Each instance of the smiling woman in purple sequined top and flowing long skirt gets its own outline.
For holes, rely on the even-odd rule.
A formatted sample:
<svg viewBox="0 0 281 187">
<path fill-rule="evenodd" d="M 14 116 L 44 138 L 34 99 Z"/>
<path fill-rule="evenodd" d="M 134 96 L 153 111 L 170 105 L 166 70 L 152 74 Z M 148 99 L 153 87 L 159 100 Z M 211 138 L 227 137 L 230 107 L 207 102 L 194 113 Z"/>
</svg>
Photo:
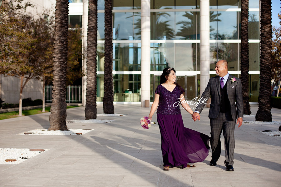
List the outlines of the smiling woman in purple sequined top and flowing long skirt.
<svg viewBox="0 0 281 187">
<path fill-rule="evenodd" d="M 187 163 L 204 161 L 209 153 L 210 138 L 185 128 L 179 105 L 174 107 L 179 101 L 184 101 L 184 92 L 185 90 L 176 83 L 175 70 L 165 68 L 160 77 L 160 84 L 155 90 L 155 99 L 148 116 L 151 119 L 158 107 L 157 122 L 161 134 L 164 170 L 169 170 L 169 166 L 191 167 Z M 187 103 L 181 105 L 188 113 L 193 114 Z"/>
</svg>

